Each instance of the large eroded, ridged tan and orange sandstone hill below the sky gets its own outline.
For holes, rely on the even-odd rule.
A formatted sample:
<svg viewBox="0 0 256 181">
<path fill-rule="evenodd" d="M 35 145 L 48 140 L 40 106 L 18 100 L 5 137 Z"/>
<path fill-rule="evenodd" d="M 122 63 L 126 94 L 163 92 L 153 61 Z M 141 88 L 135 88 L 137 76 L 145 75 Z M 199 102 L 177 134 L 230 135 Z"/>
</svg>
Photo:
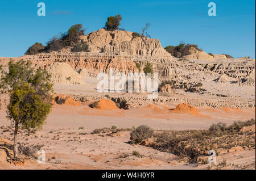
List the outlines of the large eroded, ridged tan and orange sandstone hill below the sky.
<svg viewBox="0 0 256 181">
<path fill-rule="evenodd" d="M 76 85 L 84 83 L 84 77 L 96 77 L 100 72 L 109 73 L 110 68 L 113 68 L 115 73 L 127 74 L 138 72 L 136 63 L 139 63 L 143 70 L 147 62 L 150 62 L 154 72 L 158 73 L 159 81 L 172 81 L 177 92 L 174 96 L 169 86 L 163 87 L 160 93 L 166 92 L 168 95 L 159 94 L 158 98 L 150 100 L 156 104 L 176 105 L 188 102 L 193 106 L 255 107 L 255 96 L 251 93 L 251 90 L 255 89 L 255 60 L 249 57 L 236 59 L 217 54 L 211 56 L 192 47 L 184 53 L 183 58 L 175 58 L 163 49 L 158 39 L 133 38 L 132 32 L 128 31 L 100 29 L 81 36 L 81 40 L 88 44 L 88 52 L 72 53 L 71 48 L 65 48 L 58 52 L 24 55 L 13 59 L 30 60 L 35 67 L 47 69 L 52 73 L 53 83 Z M 10 58 L 0 57 L 0 64 L 6 68 L 9 60 Z M 236 81 L 238 83 L 233 83 Z M 203 83 L 203 86 L 196 86 L 199 82 Z M 220 90 L 221 82 L 232 82 L 232 85 L 228 85 L 232 86 L 232 95 L 228 88 Z M 236 89 L 242 89 L 239 86 L 246 86 L 245 90 L 241 91 L 246 99 L 234 93 Z M 191 94 L 193 98 L 188 97 Z M 114 102 L 126 108 L 141 106 L 147 101 L 146 94 L 125 94 L 113 98 Z M 77 99 L 99 100 L 102 96 L 87 95 L 83 92 Z"/>
</svg>

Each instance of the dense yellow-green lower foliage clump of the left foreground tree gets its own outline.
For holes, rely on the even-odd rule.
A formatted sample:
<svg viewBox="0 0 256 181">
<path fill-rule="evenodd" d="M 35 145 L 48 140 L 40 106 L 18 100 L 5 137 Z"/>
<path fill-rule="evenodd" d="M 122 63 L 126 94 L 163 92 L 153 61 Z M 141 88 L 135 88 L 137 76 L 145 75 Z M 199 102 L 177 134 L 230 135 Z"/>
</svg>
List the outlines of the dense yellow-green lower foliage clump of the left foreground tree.
<svg viewBox="0 0 256 181">
<path fill-rule="evenodd" d="M 36 93 L 30 83 L 22 82 L 10 94 L 7 106 L 7 117 L 16 120 L 23 129 L 40 129 L 51 111 L 51 104 L 46 103 L 42 96 Z"/>
</svg>

